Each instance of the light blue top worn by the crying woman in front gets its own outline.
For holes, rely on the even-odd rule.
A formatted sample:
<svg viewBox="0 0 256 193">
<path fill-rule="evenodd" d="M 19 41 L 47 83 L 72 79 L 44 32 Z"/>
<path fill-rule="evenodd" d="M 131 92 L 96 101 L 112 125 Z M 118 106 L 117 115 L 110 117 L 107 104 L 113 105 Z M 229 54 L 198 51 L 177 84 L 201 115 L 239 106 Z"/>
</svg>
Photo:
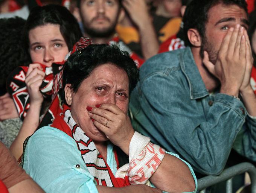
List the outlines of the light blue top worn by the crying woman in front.
<svg viewBox="0 0 256 193">
<path fill-rule="evenodd" d="M 179 158 L 174 153 L 169 153 Z M 108 144 L 107 164 L 113 174 L 117 171 L 113 145 Z M 184 160 L 182 160 L 184 161 Z M 197 191 L 197 180 L 192 167 Z M 76 165 L 79 164 L 80 168 Z M 40 128 L 30 137 L 24 153 L 24 170 L 46 193 L 98 193 L 96 181 L 88 172 L 81 152 L 73 138 L 59 129 Z"/>
</svg>

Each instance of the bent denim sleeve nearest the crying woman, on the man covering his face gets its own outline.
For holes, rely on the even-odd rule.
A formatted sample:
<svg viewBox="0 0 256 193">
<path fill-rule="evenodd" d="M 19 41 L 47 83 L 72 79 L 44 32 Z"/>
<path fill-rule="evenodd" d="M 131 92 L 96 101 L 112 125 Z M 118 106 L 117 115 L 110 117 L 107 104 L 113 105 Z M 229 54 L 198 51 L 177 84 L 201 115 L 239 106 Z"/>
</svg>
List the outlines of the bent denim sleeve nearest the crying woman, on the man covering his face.
<svg viewBox="0 0 256 193">
<path fill-rule="evenodd" d="M 245 107 L 221 93 L 212 104 L 209 96 L 191 99 L 189 84 L 180 74 L 180 68 L 173 67 L 140 81 L 130 102 L 134 129 L 180 154 L 197 172 L 218 175 L 245 123 Z"/>
</svg>

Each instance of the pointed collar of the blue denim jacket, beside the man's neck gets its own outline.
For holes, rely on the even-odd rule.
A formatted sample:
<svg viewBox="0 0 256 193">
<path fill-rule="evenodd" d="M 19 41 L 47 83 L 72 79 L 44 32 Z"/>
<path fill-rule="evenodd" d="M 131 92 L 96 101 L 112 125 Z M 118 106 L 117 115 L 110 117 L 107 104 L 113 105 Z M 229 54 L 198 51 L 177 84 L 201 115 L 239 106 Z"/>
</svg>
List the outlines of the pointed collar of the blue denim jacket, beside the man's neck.
<svg viewBox="0 0 256 193">
<path fill-rule="evenodd" d="M 190 47 L 187 47 L 184 49 L 184 52 L 181 52 L 180 66 L 189 83 L 190 99 L 200 99 L 209 95 L 195 64 Z"/>
</svg>

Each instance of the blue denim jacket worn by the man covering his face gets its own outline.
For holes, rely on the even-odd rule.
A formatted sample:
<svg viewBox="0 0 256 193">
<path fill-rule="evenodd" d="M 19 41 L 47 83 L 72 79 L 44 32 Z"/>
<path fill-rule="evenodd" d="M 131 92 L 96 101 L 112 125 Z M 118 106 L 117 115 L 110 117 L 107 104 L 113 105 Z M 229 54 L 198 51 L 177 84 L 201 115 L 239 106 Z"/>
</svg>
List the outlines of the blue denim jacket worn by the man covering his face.
<svg viewBox="0 0 256 193">
<path fill-rule="evenodd" d="M 207 91 L 189 47 L 142 65 L 130 112 L 136 131 L 197 172 L 219 174 L 232 147 L 256 161 L 256 118 L 235 97 Z"/>
</svg>

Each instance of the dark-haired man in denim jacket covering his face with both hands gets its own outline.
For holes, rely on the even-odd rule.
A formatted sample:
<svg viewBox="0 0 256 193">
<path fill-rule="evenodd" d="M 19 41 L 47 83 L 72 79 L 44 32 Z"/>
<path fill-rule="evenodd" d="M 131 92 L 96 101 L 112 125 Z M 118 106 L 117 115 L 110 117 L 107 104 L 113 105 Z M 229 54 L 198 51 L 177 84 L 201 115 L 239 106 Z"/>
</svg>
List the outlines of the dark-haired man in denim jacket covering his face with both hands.
<svg viewBox="0 0 256 193">
<path fill-rule="evenodd" d="M 256 161 L 246 7 L 192 0 L 183 18 L 189 47 L 149 59 L 131 94 L 134 128 L 206 175 L 222 171 L 232 147 Z"/>
</svg>

